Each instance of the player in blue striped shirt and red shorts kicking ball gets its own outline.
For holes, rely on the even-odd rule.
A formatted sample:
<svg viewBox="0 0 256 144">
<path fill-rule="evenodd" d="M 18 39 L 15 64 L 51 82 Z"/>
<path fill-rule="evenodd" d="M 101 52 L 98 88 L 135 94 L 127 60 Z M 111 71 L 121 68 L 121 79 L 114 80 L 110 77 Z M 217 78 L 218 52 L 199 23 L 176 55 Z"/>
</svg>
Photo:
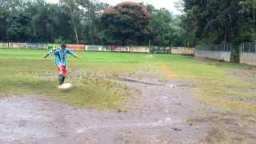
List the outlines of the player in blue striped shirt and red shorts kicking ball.
<svg viewBox="0 0 256 144">
<path fill-rule="evenodd" d="M 62 44 L 61 48 L 51 50 L 47 53 L 43 58 L 47 58 L 48 56 L 54 55 L 55 57 L 55 65 L 58 68 L 58 89 L 61 88 L 62 84 L 65 81 L 66 74 L 67 74 L 67 61 L 66 61 L 66 54 L 70 54 L 74 56 L 74 58 L 82 59 L 78 57 L 77 54 L 74 54 L 73 51 L 66 48 L 66 44 Z"/>
</svg>

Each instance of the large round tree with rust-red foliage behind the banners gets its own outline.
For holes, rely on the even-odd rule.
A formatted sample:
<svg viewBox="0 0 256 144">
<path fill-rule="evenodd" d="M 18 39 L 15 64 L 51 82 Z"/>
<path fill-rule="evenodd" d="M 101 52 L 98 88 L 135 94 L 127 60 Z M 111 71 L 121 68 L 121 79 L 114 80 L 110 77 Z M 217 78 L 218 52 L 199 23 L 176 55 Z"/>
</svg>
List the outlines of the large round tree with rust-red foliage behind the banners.
<svg viewBox="0 0 256 144">
<path fill-rule="evenodd" d="M 108 44 L 145 45 L 150 36 L 150 13 L 139 3 L 122 2 L 101 17 L 103 38 Z"/>
</svg>

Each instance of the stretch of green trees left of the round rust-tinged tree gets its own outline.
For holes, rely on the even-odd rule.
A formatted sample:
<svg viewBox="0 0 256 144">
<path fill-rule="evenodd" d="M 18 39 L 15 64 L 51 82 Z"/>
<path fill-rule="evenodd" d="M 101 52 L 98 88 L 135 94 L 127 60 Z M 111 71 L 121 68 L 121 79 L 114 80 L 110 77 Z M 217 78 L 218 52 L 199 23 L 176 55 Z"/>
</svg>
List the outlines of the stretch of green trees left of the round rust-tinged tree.
<svg viewBox="0 0 256 144">
<path fill-rule="evenodd" d="M 1 0 L 0 42 L 101 43 L 98 18 L 106 4 L 97 1 Z"/>
</svg>

